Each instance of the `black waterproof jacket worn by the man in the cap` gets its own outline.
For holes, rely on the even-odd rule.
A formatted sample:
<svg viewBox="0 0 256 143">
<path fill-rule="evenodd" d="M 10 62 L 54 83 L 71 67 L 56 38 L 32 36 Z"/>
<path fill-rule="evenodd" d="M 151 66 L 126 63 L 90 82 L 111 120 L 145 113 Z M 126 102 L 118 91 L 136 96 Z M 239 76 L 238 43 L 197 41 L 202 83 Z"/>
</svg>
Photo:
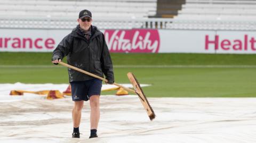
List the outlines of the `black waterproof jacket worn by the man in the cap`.
<svg viewBox="0 0 256 143">
<path fill-rule="evenodd" d="M 79 30 L 79 25 L 62 39 L 53 51 L 52 58 L 67 56 L 67 62 L 76 68 L 91 72 L 107 80 L 114 81 L 113 64 L 105 37 L 97 27 L 91 26 L 92 36 L 87 40 Z M 68 68 L 69 82 L 93 79 L 90 75 Z"/>
</svg>

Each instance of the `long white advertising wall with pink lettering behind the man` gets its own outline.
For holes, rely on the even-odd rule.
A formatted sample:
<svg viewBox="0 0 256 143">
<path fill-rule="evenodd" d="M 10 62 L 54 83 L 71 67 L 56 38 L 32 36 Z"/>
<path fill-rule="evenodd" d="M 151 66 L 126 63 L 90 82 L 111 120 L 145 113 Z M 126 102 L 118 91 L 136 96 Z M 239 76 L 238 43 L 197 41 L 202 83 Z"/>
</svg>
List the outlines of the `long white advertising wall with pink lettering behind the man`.
<svg viewBox="0 0 256 143">
<path fill-rule="evenodd" d="M 0 29 L 0 52 L 52 52 L 71 30 Z M 255 54 L 255 31 L 101 30 L 110 52 Z"/>
</svg>

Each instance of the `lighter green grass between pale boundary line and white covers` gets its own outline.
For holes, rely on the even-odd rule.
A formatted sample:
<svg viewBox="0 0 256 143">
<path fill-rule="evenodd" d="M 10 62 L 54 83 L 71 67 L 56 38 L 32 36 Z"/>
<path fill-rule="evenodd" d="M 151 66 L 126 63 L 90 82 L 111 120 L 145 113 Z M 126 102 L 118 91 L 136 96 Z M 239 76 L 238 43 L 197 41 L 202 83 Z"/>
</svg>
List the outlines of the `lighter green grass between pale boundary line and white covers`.
<svg viewBox="0 0 256 143">
<path fill-rule="evenodd" d="M 60 66 L 60 65 L 59 65 Z M 117 83 L 133 72 L 149 97 L 256 97 L 255 68 L 115 68 Z M 68 83 L 66 68 L 3 68 L 1 83 Z M 114 92 L 102 92 L 114 94 Z"/>
</svg>

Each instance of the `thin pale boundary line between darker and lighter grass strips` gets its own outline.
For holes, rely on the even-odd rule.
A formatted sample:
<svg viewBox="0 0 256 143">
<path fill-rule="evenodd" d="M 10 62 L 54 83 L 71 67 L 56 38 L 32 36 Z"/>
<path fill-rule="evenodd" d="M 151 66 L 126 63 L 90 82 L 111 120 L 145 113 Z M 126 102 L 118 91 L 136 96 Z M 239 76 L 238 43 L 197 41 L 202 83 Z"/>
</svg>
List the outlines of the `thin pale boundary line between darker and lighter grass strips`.
<svg viewBox="0 0 256 143">
<path fill-rule="evenodd" d="M 0 65 L 0 68 L 66 68 L 56 65 Z M 256 65 L 114 65 L 114 68 L 256 68 Z"/>
</svg>

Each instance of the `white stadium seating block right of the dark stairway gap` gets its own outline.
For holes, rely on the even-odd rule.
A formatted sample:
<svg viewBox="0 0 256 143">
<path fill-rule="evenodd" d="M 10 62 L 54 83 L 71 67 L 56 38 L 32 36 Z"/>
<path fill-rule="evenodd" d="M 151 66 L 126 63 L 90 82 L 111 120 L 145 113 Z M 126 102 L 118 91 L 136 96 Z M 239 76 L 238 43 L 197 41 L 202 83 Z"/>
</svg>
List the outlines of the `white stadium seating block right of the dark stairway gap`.
<svg viewBox="0 0 256 143">
<path fill-rule="evenodd" d="M 187 0 L 171 29 L 255 30 L 256 1 Z"/>
</svg>

